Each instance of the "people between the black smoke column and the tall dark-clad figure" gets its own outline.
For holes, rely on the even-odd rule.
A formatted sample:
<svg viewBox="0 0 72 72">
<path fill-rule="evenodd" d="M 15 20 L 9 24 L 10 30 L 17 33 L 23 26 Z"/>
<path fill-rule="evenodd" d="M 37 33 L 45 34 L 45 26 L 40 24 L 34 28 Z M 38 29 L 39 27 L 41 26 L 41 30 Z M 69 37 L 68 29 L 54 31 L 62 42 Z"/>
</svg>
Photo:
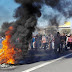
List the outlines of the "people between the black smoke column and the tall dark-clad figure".
<svg viewBox="0 0 72 72">
<path fill-rule="evenodd" d="M 52 45 L 51 45 L 52 44 Z M 33 36 L 31 43 L 29 44 L 31 49 L 52 49 L 54 48 L 54 36 L 37 34 Z"/>
</svg>

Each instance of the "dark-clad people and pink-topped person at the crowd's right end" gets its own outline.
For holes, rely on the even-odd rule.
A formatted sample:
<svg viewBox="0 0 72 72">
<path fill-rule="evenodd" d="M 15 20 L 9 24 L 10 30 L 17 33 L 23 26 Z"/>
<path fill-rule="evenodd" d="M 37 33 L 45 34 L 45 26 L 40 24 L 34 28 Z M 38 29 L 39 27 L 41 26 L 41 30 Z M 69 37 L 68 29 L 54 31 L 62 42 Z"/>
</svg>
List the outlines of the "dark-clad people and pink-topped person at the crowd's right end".
<svg viewBox="0 0 72 72">
<path fill-rule="evenodd" d="M 57 32 L 54 37 L 54 51 L 63 52 L 65 50 L 72 50 L 72 34 L 66 35 L 63 33 L 62 35 Z"/>
</svg>

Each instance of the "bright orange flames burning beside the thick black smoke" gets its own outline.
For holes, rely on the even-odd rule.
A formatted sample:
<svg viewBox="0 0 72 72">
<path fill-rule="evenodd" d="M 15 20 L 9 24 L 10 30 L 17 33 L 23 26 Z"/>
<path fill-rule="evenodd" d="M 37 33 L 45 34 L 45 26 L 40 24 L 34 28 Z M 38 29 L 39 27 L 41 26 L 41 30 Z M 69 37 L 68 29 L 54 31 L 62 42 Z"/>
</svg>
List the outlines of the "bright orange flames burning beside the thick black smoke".
<svg viewBox="0 0 72 72">
<path fill-rule="evenodd" d="M 10 39 L 11 39 L 11 31 L 13 30 L 13 27 L 9 27 L 9 30 L 5 33 L 6 39 L 3 40 L 2 49 L 0 49 L 0 64 L 6 63 L 6 64 L 14 64 L 15 63 L 15 54 L 17 52 L 21 52 L 21 50 L 15 51 L 14 45 L 11 45 Z"/>
</svg>

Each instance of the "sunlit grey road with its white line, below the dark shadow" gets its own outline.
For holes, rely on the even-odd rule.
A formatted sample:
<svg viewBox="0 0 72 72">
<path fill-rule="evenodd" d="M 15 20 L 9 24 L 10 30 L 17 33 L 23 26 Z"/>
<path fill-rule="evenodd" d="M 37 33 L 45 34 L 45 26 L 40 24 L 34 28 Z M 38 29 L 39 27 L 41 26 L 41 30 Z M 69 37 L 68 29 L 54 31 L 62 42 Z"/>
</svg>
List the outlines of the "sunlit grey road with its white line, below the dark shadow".
<svg viewBox="0 0 72 72">
<path fill-rule="evenodd" d="M 0 72 L 71 72 L 72 53 L 66 53 L 64 56 L 52 60 L 17 65 L 9 69 L 0 69 Z"/>
</svg>

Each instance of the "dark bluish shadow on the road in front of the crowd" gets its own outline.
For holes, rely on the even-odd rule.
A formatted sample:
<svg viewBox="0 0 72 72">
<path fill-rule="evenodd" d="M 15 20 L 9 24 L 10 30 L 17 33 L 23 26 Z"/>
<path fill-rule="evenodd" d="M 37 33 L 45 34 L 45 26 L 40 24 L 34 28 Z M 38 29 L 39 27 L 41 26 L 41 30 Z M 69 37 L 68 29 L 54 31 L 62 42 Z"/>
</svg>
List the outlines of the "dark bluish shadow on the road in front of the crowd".
<svg viewBox="0 0 72 72">
<path fill-rule="evenodd" d="M 29 50 L 26 58 L 19 60 L 16 65 L 31 64 L 40 61 L 50 61 L 61 56 L 71 53 L 64 51 L 63 53 L 55 53 L 54 50 Z M 68 57 L 69 58 L 69 57 Z"/>
</svg>

